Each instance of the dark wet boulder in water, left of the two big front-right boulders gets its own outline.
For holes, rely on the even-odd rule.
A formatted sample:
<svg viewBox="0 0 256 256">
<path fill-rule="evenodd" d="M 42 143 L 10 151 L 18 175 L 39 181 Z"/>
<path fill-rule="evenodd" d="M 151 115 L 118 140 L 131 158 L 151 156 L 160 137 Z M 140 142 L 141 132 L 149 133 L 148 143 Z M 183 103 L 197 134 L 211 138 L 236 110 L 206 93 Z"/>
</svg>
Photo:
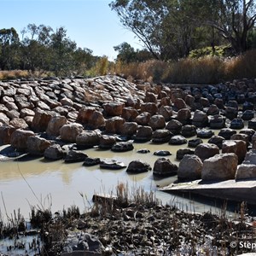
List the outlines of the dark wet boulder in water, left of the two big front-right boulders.
<svg viewBox="0 0 256 256">
<path fill-rule="evenodd" d="M 159 177 L 177 174 L 177 166 L 166 158 L 160 158 L 154 162 L 153 174 Z"/>
</svg>

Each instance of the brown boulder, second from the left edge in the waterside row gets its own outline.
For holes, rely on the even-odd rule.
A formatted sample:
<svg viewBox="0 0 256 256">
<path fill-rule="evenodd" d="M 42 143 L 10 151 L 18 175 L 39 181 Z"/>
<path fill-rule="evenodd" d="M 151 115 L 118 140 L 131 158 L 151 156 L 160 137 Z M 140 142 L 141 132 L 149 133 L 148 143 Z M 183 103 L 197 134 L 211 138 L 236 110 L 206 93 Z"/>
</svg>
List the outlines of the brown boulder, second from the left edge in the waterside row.
<svg viewBox="0 0 256 256">
<path fill-rule="evenodd" d="M 25 151 L 27 148 L 27 138 L 31 136 L 35 136 L 33 131 L 25 131 L 18 129 L 12 133 L 10 138 L 10 144 L 12 147 L 16 148 L 17 151 Z"/>
</svg>

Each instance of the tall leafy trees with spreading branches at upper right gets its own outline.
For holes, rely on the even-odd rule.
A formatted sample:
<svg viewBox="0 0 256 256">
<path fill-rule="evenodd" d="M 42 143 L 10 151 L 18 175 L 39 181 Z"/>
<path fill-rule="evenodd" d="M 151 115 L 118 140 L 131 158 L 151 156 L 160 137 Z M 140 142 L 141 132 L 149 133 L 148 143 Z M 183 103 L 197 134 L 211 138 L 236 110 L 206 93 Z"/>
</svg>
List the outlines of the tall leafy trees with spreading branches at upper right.
<svg viewBox="0 0 256 256">
<path fill-rule="evenodd" d="M 206 46 L 212 55 L 222 44 L 230 45 L 230 55 L 256 48 L 255 0 L 115 0 L 109 6 L 161 61 Z M 131 56 L 131 48 L 120 46 L 123 57 Z"/>
</svg>

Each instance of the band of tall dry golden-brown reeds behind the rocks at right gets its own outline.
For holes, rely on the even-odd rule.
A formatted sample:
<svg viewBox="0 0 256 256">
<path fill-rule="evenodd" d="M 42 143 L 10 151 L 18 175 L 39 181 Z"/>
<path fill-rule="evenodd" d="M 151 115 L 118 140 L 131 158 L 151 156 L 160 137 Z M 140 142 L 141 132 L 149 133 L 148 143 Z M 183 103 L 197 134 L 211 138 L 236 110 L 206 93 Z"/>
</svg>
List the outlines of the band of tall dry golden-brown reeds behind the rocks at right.
<svg viewBox="0 0 256 256">
<path fill-rule="evenodd" d="M 256 50 L 232 58 L 204 56 L 179 61 L 116 62 L 110 70 L 125 78 L 151 82 L 183 84 L 217 84 L 229 79 L 256 77 Z"/>
</svg>

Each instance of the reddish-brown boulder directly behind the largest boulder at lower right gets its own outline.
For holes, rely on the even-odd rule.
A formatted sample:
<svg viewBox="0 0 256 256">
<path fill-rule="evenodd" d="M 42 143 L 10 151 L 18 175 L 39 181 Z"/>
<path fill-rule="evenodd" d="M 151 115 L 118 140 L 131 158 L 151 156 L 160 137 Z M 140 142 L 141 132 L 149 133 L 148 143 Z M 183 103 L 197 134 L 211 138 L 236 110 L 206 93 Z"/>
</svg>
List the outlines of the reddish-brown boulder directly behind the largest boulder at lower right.
<svg viewBox="0 0 256 256">
<path fill-rule="evenodd" d="M 241 164 L 247 154 L 247 143 L 241 140 L 224 141 L 222 143 L 222 153 L 235 153 L 237 155 L 238 164 Z"/>
</svg>

